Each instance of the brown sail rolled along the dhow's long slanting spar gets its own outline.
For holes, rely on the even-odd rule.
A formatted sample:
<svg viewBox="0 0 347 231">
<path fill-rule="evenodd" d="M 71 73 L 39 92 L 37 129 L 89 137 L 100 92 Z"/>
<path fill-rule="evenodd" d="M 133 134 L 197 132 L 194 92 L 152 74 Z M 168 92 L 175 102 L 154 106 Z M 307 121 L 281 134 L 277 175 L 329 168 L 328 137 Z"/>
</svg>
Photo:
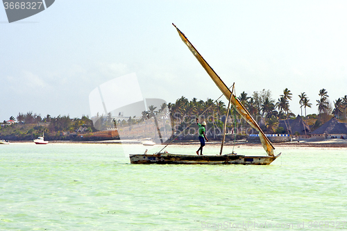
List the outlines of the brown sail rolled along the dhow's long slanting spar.
<svg viewBox="0 0 347 231">
<path fill-rule="evenodd" d="M 173 24 L 173 25 L 175 26 L 175 24 Z M 219 87 L 221 92 L 223 92 L 224 96 L 226 96 L 226 99 L 228 99 L 228 101 L 229 101 L 230 96 L 232 96 L 231 97 L 232 105 L 235 106 L 235 109 L 237 110 L 237 112 L 239 112 L 239 114 L 242 116 L 242 118 L 244 118 L 244 120 L 246 120 L 247 123 L 249 123 L 252 128 L 254 128 L 255 130 L 257 130 L 257 132 L 259 132 L 260 142 L 262 142 L 262 146 L 263 146 L 264 150 L 266 151 L 266 153 L 268 155 L 273 156 L 273 149 L 275 149 L 275 148 L 271 144 L 270 140 L 266 137 L 266 135 L 264 135 L 264 132 L 262 131 L 260 126 L 257 124 L 257 122 L 253 119 L 251 114 L 249 114 L 249 112 L 246 110 L 246 108 L 244 108 L 244 105 L 242 105 L 242 103 L 236 98 L 236 96 L 234 94 L 232 94 L 232 92 L 230 92 L 230 89 L 228 89 L 226 84 L 223 83 L 221 78 L 219 78 L 217 73 L 214 72 L 212 67 L 210 67 L 210 65 L 208 65 L 208 62 L 205 61 L 203 56 L 201 56 L 201 54 L 198 53 L 198 51 L 195 49 L 195 47 L 189 42 L 187 37 L 185 37 L 185 35 L 176 26 L 175 26 L 175 28 L 177 29 L 178 34 L 180 35 L 180 38 L 188 46 L 189 50 L 192 51 L 193 55 L 198 60 L 198 62 L 200 62 L 200 64 L 205 69 L 205 71 L 208 72 L 208 74 L 210 75 L 210 77 L 212 78 L 214 83 L 217 85 L 217 87 Z"/>
</svg>

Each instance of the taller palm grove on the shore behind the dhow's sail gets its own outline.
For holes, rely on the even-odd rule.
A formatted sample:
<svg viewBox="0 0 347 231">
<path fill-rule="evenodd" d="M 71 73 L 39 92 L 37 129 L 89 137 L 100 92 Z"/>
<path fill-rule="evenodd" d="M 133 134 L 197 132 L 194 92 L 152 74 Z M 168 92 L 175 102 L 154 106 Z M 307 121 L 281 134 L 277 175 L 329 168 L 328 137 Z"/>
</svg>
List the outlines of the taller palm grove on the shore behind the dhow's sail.
<svg viewBox="0 0 347 231">
<path fill-rule="evenodd" d="M 328 99 L 329 96 L 326 89 L 321 89 L 319 96 L 321 99 L 316 101 L 318 116 L 317 114 L 311 115 L 311 118 L 315 119 L 315 123 L 312 126 L 313 129 L 321 126 L 321 124 L 328 121 L 332 116 L 337 117 L 341 121 L 347 121 L 347 95 L 334 101 L 334 107 L 332 107 Z M 279 96 L 277 101 L 271 97 L 271 91 L 269 89 L 253 92 L 252 96 L 248 96 L 246 92 L 242 92 L 237 96 L 237 99 L 241 101 L 242 105 L 245 106 L 258 123 L 263 124 L 262 129 L 266 132 L 285 133 L 285 128 L 278 128 L 279 121 L 284 120 L 285 123 L 289 123 L 287 121 L 288 119 L 296 117 L 291 112 L 289 106 L 289 101 L 293 100 L 293 94 L 288 88 L 283 90 L 283 94 Z M 312 103 L 305 92 L 298 95 L 298 103 L 301 108 L 301 117 L 303 117 L 304 110 L 304 118 L 307 119 L 306 111 L 307 108 L 312 108 Z M 208 114 L 214 116 L 213 121 L 207 122 L 219 128 L 222 128 L 224 122 L 223 115 L 226 114 L 227 110 L 225 103 L 222 101 L 213 101 L 212 99 L 203 101 L 196 98 L 189 101 L 185 96 L 177 99 L 175 103 L 169 103 L 168 107 L 173 124 L 187 123 L 192 117 Z M 236 114 L 235 117 L 237 119 L 239 115 Z M 239 121 L 239 119 L 236 121 L 234 126 L 239 126 L 240 124 L 247 126 L 245 122 Z"/>
</svg>

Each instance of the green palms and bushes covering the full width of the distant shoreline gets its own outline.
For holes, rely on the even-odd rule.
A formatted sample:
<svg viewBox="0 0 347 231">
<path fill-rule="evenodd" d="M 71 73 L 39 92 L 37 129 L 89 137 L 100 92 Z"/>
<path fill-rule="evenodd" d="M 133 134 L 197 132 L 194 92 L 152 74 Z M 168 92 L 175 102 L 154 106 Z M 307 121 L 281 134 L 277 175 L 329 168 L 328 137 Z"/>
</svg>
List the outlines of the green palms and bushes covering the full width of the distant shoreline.
<svg viewBox="0 0 347 231">
<path fill-rule="evenodd" d="M 305 92 L 298 95 L 301 116 L 303 117 L 303 112 L 305 112 L 305 117 L 303 118 L 312 130 L 319 128 L 333 116 L 341 122 L 347 122 L 347 95 L 334 101 L 334 107 L 332 107 L 329 101 L 326 89 L 321 89 L 319 96 L 321 96 L 321 99 L 316 101 L 319 113 L 307 115 L 306 109 L 311 108 L 312 103 L 310 103 L 310 99 L 308 99 Z M 287 119 L 296 117 L 289 108 L 292 94 L 288 88 L 284 89 L 277 102 L 271 98 L 270 90 L 265 89 L 262 89 L 260 92 L 253 92 L 252 96 L 242 92 L 238 99 L 250 112 L 255 121 L 260 124 L 264 132 L 267 133 L 283 134 L 288 132 L 287 128 L 278 127 L 280 120 L 285 120 L 285 123 L 288 123 L 286 122 Z M 128 121 L 115 121 L 109 113 L 107 117 L 100 117 L 95 120 L 94 125 L 92 120 L 86 116 L 81 117 L 81 119 L 71 119 L 69 115 L 51 117 L 51 115 L 47 114 L 46 117 L 42 118 L 33 112 L 27 112 L 26 114 L 19 112 L 16 118 L 12 116 L 9 118 L 9 121 L 3 121 L 0 127 L 0 139 L 32 140 L 44 132 L 44 137 L 47 140 L 85 140 L 87 137 L 93 137 L 93 132 L 97 130 L 117 128 L 117 124 L 120 126 L 131 126 L 151 117 L 155 118 L 156 114 L 163 111 L 171 119 L 171 128 L 174 128 L 172 130 L 173 136 L 188 126 L 196 126 L 194 119 L 200 115 L 201 119 L 208 123 L 208 128 L 213 130 L 211 133 L 213 138 L 219 139 L 223 131 L 223 123 L 226 121 L 226 110 L 226 105 L 222 101 L 214 101 L 212 99 L 203 101 L 196 98 L 189 101 L 182 96 L 175 103 L 164 103 L 158 109 L 151 105 L 149 111 L 142 112 L 141 119 L 129 117 Z M 12 121 L 16 122 L 13 123 Z M 158 127 L 158 123 L 156 124 Z M 158 132 L 168 129 L 169 127 L 166 126 L 165 128 L 157 128 Z M 251 127 L 231 108 L 227 129 L 229 136 L 237 134 L 239 138 L 242 138 L 246 133 L 249 133 L 248 129 L 251 129 Z M 186 131 L 185 134 L 190 132 L 190 135 L 194 135 L 193 130 Z M 114 135 L 112 137 L 117 138 Z"/>
</svg>

